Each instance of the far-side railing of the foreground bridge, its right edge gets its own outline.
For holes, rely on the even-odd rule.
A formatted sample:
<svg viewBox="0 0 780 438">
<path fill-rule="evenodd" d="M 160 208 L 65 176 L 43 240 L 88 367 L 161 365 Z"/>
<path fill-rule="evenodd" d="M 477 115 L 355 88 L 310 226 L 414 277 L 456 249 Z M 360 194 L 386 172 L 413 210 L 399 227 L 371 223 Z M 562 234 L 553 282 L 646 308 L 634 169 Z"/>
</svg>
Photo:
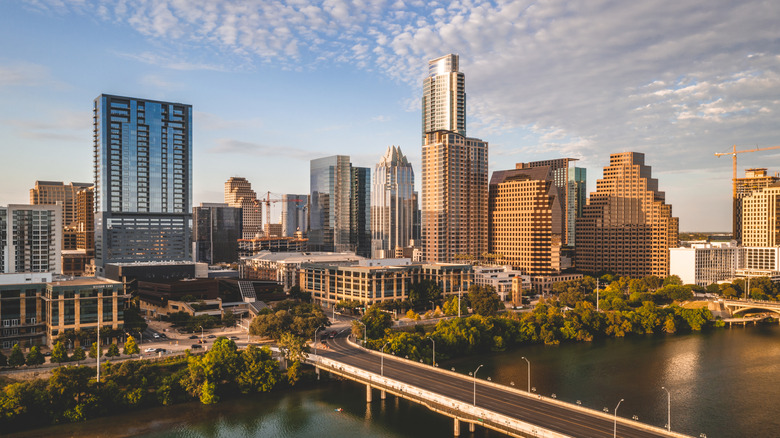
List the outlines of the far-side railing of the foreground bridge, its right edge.
<svg viewBox="0 0 780 438">
<path fill-rule="evenodd" d="M 464 382 L 472 382 L 472 379 L 473 379 L 473 377 L 469 377 L 469 376 L 467 376 L 465 374 L 457 373 L 457 372 L 450 371 L 450 370 L 447 370 L 447 369 L 444 369 L 444 368 L 433 367 L 431 365 L 419 363 L 419 362 L 416 362 L 414 360 L 409 360 L 409 359 L 401 358 L 401 357 L 398 357 L 398 356 L 395 356 L 395 355 L 392 355 L 392 354 L 387 354 L 387 353 L 382 353 L 382 352 L 379 352 L 379 351 L 376 351 L 376 350 L 371 350 L 371 349 L 368 349 L 368 348 L 365 348 L 365 347 L 363 347 L 361 345 L 356 344 L 350 338 L 347 338 L 347 342 L 349 342 L 349 344 L 352 345 L 353 347 L 361 348 L 361 349 L 363 349 L 364 351 L 366 351 L 366 352 L 368 352 L 370 354 L 377 355 L 377 356 L 384 355 L 385 358 L 392 358 L 392 359 L 395 359 L 395 360 L 404 361 L 405 363 L 408 363 L 409 365 L 412 365 L 412 366 L 415 366 L 415 367 L 419 367 L 419 368 L 425 368 L 427 370 L 433 369 L 433 370 L 435 370 L 435 371 L 437 371 L 439 373 L 444 373 L 444 374 L 446 374 L 448 376 L 460 379 L 460 380 L 462 380 Z M 541 401 L 546 402 L 546 403 L 555 404 L 555 405 L 558 405 L 558 406 L 565 407 L 567 409 L 572 409 L 572 410 L 575 410 L 575 411 L 579 411 L 579 412 L 584 413 L 586 415 L 589 415 L 591 417 L 600 417 L 600 418 L 603 418 L 603 419 L 608 420 L 608 421 L 615 421 L 614 415 L 610 415 L 610 414 L 605 413 L 605 412 L 600 411 L 600 410 L 587 408 L 587 407 L 584 407 L 584 406 L 581 406 L 581 405 L 577 405 L 577 404 L 574 404 L 574 403 L 561 401 L 561 400 L 558 400 L 558 399 L 555 399 L 555 398 L 551 398 L 551 397 L 545 397 L 545 396 L 543 396 L 541 394 L 531 394 L 528 391 L 523 391 L 523 390 L 511 387 L 511 386 L 502 385 L 500 383 L 495 383 L 495 382 L 488 381 L 488 380 L 479 380 L 479 384 L 480 385 L 484 385 L 484 386 L 490 386 L 490 387 L 493 387 L 493 388 L 497 388 L 497 389 L 500 389 L 502 391 L 511 392 L 511 393 L 519 395 L 521 397 L 537 399 L 537 400 L 541 400 Z M 658 426 L 653 426 L 653 425 L 650 425 L 650 424 L 647 424 L 647 423 L 642 423 L 642 422 L 636 421 L 636 420 L 629 420 L 629 419 L 624 418 L 624 417 L 617 417 L 617 422 L 620 423 L 620 424 L 629 426 L 629 427 L 635 427 L 635 428 L 651 431 L 651 432 L 656 433 L 656 434 L 662 434 L 662 435 L 666 435 L 666 436 L 670 436 L 670 437 L 677 437 L 677 438 L 690 438 L 690 435 L 685 435 L 685 434 L 674 432 L 674 431 L 669 432 L 665 428 L 661 428 L 661 427 L 658 427 Z"/>
</svg>

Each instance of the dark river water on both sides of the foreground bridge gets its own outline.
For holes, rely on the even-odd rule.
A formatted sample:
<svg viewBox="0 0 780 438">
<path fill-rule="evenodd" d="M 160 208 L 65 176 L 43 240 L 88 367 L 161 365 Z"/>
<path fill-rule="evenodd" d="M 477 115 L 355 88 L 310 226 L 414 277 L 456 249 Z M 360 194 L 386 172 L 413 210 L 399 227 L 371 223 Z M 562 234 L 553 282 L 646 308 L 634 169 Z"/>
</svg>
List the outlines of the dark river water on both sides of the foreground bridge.
<svg viewBox="0 0 780 438">
<path fill-rule="evenodd" d="M 460 359 L 442 366 L 467 373 L 484 365 L 478 378 L 527 388 L 539 394 L 618 415 L 638 416 L 663 427 L 671 393 L 672 430 L 695 437 L 780 436 L 780 327 L 719 329 L 685 336 L 611 339 L 519 350 Z M 295 391 L 196 403 L 76 425 L 61 425 L 33 436 L 168 437 L 451 437 L 452 420 L 388 396 L 366 404 L 365 387 L 329 382 Z M 343 411 L 336 411 L 342 408 Z M 462 436 L 498 437 L 477 428 Z"/>
</svg>

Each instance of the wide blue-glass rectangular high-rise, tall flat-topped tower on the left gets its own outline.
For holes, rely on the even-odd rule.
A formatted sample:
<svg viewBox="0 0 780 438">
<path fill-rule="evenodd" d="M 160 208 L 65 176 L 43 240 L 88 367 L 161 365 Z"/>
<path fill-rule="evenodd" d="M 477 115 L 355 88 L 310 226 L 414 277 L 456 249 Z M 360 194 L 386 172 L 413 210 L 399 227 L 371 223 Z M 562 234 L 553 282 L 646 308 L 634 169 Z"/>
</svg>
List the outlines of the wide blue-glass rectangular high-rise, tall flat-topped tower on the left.
<svg viewBox="0 0 780 438">
<path fill-rule="evenodd" d="M 95 265 L 191 258 L 192 106 L 95 99 Z"/>
</svg>

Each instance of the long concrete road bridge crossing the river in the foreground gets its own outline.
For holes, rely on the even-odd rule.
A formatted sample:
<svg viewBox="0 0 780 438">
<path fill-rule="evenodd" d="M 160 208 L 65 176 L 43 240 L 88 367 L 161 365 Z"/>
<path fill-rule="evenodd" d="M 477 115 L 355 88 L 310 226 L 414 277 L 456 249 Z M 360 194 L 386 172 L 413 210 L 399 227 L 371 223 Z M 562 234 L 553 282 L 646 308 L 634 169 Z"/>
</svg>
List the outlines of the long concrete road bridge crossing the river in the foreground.
<svg viewBox="0 0 780 438">
<path fill-rule="evenodd" d="M 419 403 L 453 418 L 453 435 L 461 425 L 470 431 L 486 427 L 512 437 L 688 437 L 660 427 L 628 420 L 553 398 L 531 394 L 393 355 L 367 350 L 344 336 L 328 342 L 327 350 L 310 354 L 308 363 L 320 370 L 366 385 L 366 401 L 374 391 Z"/>
</svg>

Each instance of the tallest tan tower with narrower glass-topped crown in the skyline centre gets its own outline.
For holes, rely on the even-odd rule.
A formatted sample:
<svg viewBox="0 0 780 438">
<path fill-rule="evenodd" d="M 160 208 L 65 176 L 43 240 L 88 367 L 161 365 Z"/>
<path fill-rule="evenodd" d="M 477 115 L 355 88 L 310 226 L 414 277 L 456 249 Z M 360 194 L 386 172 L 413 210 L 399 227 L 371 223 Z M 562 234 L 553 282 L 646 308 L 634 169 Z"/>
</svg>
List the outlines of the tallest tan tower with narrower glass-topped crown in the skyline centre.
<svg viewBox="0 0 780 438">
<path fill-rule="evenodd" d="M 488 144 L 466 137 L 465 77 L 458 56 L 434 59 L 428 70 L 422 99 L 424 258 L 478 258 L 488 248 Z"/>
</svg>

